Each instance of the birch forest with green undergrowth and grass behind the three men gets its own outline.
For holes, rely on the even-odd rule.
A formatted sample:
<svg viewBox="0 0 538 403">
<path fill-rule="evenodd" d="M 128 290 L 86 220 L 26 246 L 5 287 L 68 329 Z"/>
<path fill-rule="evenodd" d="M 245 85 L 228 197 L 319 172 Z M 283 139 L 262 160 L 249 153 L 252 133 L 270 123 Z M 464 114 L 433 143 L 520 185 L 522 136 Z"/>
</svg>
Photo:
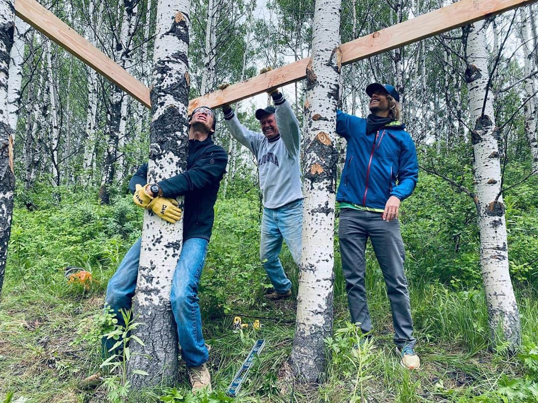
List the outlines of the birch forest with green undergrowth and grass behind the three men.
<svg viewBox="0 0 538 403">
<path fill-rule="evenodd" d="M 155 3 L 86 0 L 44 4 L 145 84 L 151 81 Z M 342 3 L 342 42 L 443 4 L 435 1 Z M 473 200 L 468 28 L 371 57 L 343 68 L 345 112 L 365 117 L 364 88 L 393 83 L 413 136 L 421 172 L 402 203 L 402 233 L 417 352 L 423 368 L 408 372 L 392 348 L 383 276 L 367 251 L 367 289 L 375 346 L 354 350 L 345 284 L 335 243 L 335 334 L 326 340 L 326 379 L 316 388 L 284 382 L 292 348 L 295 304 L 266 303 L 259 264 L 261 200 L 256 165 L 230 141 L 217 112 L 216 142 L 229 151 L 200 298 L 214 389 L 194 398 L 181 378 L 175 388 L 123 397 L 121 375 L 97 391 L 77 382 L 97 370 L 108 279 L 141 229 L 141 211 L 127 183 L 147 160 L 150 115 L 79 60 L 17 20 L 10 61 L 10 118 L 15 132 L 17 188 L 5 283 L 0 301 L 0 399 L 5 401 L 229 401 L 223 394 L 256 339 L 266 350 L 239 401 L 538 401 L 538 52 L 536 6 L 489 20 L 484 56 L 486 97 L 493 100 L 506 207 L 509 270 L 521 314 L 516 354 L 492 346 L 480 275 L 480 238 Z M 260 67 L 309 56 L 312 1 L 192 2 L 191 98 Z M 13 71 L 13 73 L 11 73 Z M 471 71 L 472 73 L 472 71 Z M 18 83 L 16 80 L 19 80 Z M 12 84 L 14 83 L 14 84 Z M 302 83 L 284 90 L 302 120 Z M 258 98 L 259 99 L 259 98 Z M 261 101 L 263 102 L 263 101 Z M 259 101 L 258 101 L 259 103 Z M 240 119 L 252 129 L 255 105 Z M 345 143 L 339 144 L 344 161 Z M 297 292 L 297 269 L 284 265 Z M 88 284 L 69 283 L 65 267 L 89 270 Z M 233 332 L 233 316 L 252 326 Z M 184 375 L 184 374 L 183 374 Z M 204 400 L 206 399 L 206 400 Z M 212 400 L 213 399 L 213 400 Z"/>
</svg>

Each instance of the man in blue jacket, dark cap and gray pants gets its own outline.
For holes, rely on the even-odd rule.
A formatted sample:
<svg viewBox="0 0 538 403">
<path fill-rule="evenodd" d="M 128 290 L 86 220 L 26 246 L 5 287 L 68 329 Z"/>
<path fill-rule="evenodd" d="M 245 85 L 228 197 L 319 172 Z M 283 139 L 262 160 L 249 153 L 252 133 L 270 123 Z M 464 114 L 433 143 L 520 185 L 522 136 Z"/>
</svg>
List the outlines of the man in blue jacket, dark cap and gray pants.
<svg viewBox="0 0 538 403">
<path fill-rule="evenodd" d="M 399 121 L 398 91 L 392 85 L 373 83 L 366 87 L 366 93 L 371 112 L 366 119 L 341 111 L 336 116 L 336 132 L 347 141 L 336 200 L 340 204 L 338 236 L 349 310 L 363 334 L 371 332 L 364 284 L 366 241 L 370 238 L 387 285 L 400 363 L 416 369 L 420 359 L 414 351 L 398 221 L 400 202 L 413 192 L 418 178 L 415 145 Z"/>
</svg>

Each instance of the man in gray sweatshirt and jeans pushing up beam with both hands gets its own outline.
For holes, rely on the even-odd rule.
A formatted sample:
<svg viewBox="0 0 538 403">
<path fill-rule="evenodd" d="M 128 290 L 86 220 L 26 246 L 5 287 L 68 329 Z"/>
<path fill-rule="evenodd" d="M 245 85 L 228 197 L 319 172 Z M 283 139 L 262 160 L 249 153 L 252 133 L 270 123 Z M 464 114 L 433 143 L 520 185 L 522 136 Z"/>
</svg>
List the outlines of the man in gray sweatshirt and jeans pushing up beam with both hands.
<svg viewBox="0 0 538 403">
<path fill-rule="evenodd" d="M 268 92 L 275 106 L 256 111 L 262 133 L 252 132 L 240 124 L 229 105 L 223 105 L 222 111 L 233 138 L 248 148 L 258 161 L 264 204 L 260 260 L 274 287 L 274 291 L 265 296 L 276 300 L 292 295 L 292 283 L 286 277 L 278 255 L 284 239 L 293 260 L 299 265 L 303 196 L 299 121 L 278 90 Z"/>
</svg>

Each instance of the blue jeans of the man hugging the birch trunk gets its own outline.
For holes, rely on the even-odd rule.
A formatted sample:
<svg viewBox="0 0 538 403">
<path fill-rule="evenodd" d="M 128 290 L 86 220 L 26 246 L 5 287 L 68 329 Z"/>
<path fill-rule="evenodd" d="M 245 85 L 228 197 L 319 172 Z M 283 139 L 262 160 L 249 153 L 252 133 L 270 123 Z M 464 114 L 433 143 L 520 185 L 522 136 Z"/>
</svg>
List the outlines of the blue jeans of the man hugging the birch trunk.
<svg viewBox="0 0 538 403">
<path fill-rule="evenodd" d="M 140 260 L 140 244 L 138 239 L 119 264 L 107 287 L 105 304 L 116 313 L 118 325 L 124 326 L 120 309 L 129 310 L 134 296 Z M 187 366 L 200 366 L 208 360 L 208 351 L 202 336 L 202 318 L 198 284 L 204 262 L 206 261 L 208 241 L 202 238 L 190 238 L 183 242 L 181 255 L 176 264 L 172 278 L 170 301 L 175 322 L 178 326 L 178 340 L 181 355 Z M 102 354 L 114 345 L 114 340 L 102 340 Z M 119 352 L 119 351 L 116 351 Z"/>
</svg>

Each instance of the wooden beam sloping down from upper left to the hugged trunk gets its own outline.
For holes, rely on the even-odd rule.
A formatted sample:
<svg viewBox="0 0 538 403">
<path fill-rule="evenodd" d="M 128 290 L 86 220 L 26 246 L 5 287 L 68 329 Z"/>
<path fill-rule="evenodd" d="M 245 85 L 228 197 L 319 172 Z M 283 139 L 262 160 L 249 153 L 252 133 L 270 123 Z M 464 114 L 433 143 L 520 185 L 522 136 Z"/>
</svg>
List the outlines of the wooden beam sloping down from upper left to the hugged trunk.
<svg viewBox="0 0 538 403">
<path fill-rule="evenodd" d="M 70 54 L 151 108 L 150 90 L 73 28 L 34 0 L 15 0 L 15 13 Z"/>
</svg>

